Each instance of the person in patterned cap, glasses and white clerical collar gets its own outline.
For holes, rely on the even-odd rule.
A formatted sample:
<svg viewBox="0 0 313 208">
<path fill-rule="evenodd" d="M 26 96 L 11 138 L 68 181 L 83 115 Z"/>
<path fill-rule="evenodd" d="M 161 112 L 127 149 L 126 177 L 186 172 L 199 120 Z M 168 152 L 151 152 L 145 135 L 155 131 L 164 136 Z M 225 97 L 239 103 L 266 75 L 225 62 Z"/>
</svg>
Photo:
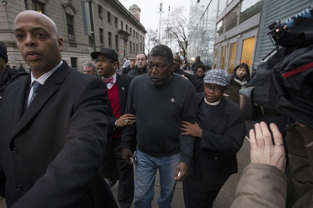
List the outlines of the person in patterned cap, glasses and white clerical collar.
<svg viewBox="0 0 313 208">
<path fill-rule="evenodd" d="M 230 75 L 213 69 L 204 78 L 204 93 L 197 94 L 196 123 L 182 121 L 182 135 L 195 136 L 193 164 L 183 181 L 186 207 L 212 207 L 228 177 L 238 172 L 236 154 L 243 145 L 246 126 L 239 105 L 225 98 Z"/>
</svg>

